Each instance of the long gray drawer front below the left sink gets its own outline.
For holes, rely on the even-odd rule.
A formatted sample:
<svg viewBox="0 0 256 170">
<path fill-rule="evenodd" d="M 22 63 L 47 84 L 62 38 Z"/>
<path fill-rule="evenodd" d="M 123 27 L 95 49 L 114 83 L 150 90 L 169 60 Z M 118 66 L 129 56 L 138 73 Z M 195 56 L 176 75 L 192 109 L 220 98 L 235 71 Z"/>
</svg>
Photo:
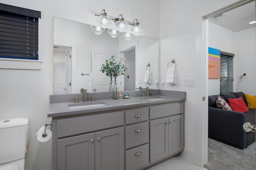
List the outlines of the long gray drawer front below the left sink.
<svg viewBox="0 0 256 170">
<path fill-rule="evenodd" d="M 124 125 L 124 112 L 104 113 L 57 120 L 57 137 Z"/>
</svg>

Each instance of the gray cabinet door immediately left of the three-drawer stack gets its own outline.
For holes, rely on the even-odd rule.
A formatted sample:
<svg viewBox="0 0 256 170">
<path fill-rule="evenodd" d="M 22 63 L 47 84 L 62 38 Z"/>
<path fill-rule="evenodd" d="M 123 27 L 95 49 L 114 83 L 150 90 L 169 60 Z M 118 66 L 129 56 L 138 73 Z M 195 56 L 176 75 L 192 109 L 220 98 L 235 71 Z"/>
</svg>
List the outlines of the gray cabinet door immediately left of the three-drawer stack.
<svg viewBox="0 0 256 170">
<path fill-rule="evenodd" d="M 95 133 L 95 170 L 124 169 L 124 127 Z"/>
</svg>

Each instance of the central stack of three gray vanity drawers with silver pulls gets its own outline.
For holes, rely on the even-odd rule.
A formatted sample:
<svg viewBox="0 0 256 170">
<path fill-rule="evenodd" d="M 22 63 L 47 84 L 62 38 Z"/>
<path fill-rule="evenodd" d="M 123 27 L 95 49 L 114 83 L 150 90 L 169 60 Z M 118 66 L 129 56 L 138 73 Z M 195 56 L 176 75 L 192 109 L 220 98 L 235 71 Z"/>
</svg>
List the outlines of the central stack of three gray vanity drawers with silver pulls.
<svg viewBox="0 0 256 170">
<path fill-rule="evenodd" d="M 125 111 L 126 170 L 136 170 L 149 164 L 148 109 Z"/>
</svg>

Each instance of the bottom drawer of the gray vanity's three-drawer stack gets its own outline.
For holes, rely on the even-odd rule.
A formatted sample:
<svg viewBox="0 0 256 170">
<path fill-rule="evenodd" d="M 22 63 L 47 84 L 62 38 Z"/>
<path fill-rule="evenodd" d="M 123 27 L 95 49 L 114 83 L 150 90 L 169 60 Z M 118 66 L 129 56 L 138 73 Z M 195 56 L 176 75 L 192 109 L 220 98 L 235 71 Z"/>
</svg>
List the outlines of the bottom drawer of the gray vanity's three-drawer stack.
<svg viewBox="0 0 256 170">
<path fill-rule="evenodd" d="M 126 170 L 136 170 L 149 164 L 148 144 L 126 150 Z"/>
</svg>

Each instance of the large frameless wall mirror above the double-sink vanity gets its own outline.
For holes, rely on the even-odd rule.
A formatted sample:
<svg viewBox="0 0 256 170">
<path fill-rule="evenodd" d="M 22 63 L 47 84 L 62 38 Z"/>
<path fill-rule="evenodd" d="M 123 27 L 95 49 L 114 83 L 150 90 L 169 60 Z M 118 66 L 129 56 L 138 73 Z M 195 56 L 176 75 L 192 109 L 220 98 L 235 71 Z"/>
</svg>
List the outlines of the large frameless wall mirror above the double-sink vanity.
<svg viewBox="0 0 256 170">
<path fill-rule="evenodd" d="M 117 79 L 120 90 L 158 89 L 158 49 L 158 39 L 134 36 L 127 41 L 107 31 L 96 35 L 88 24 L 54 18 L 53 94 L 109 91 L 110 78 L 100 68 L 113 55 L 125 57 L 127 70 Z"/>
</svg>

